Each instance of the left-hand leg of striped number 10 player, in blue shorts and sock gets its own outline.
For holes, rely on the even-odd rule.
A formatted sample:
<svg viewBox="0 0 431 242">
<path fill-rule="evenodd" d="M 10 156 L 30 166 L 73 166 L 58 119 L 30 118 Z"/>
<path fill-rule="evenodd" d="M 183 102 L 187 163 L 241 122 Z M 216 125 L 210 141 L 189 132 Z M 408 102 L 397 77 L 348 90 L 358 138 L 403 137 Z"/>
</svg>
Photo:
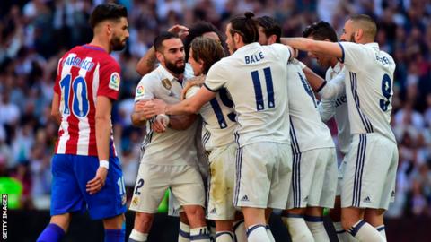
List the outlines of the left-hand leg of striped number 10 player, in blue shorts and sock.
<svg viewBox="0 0 431 242">
<path fill-rule="evenodd" d="M 42 231 L 38 242 L 59 241 L 66 233 L 71 216 L 69 212 L 84 212 L 81 195 L 73 169 L 73 156 L 57 154 L 52 158 L 52 176 L 56 180 L 51 189 L 51 220 Z"/>
</svg>

